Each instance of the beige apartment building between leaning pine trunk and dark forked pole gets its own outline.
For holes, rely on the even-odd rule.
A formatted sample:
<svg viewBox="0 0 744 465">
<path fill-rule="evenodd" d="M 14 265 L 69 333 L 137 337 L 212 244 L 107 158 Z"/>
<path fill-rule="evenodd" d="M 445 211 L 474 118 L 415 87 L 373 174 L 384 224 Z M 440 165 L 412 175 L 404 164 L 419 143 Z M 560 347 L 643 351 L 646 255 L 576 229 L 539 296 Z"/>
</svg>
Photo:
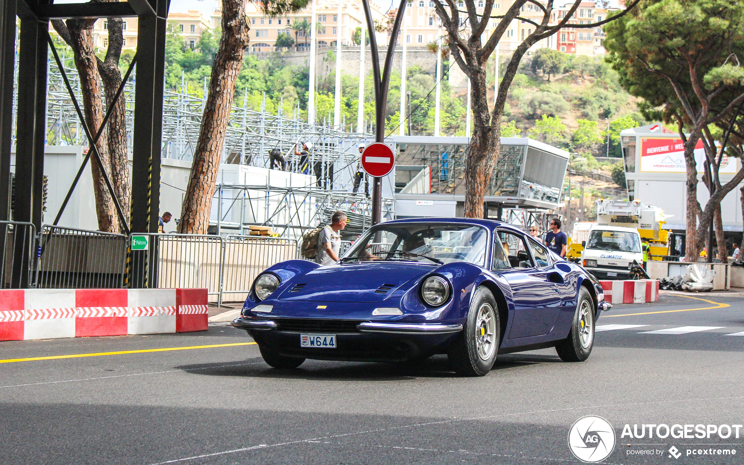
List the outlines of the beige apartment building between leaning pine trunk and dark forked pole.
<svg viewBox="0 0 744 465">
<path fill-rule="evenodd" d="M 382 21 L 385 12 L 378 4 L 370 2 L 373 19 Z M 260 9 L 260 4 L 248 2 L 246 4 L 246 16 L 251 26 L 251 51 L 273 51 L 277 36 L 280 33 L 289 34 L 295 40 L 295 50 L 304 50 L 310 47 L 310 31 L 295 31 L 292 25 L 295 21 L 302 20 L 311 22 L 311 7 L 297 13 L 291 13 L 280 18 L 269 18 Z M 335 47 L 336 39 L 341 33 L 341 45 L 353 45 L 353 35 L 356 28 L 361 27 L 364 21 L 362 1 L 341 1 L 341 17 L 339 18 L 339 2 L 319 0 L 315 6 L 316 35 L 315 45 L 318 48 Z M 340 28 L 340 31 L 339 31 Z M 366 26 L 365 26 L 366 29 Z M 385 39 L 385 33 L 377 33 L 378 43 Z"/>
</svg>

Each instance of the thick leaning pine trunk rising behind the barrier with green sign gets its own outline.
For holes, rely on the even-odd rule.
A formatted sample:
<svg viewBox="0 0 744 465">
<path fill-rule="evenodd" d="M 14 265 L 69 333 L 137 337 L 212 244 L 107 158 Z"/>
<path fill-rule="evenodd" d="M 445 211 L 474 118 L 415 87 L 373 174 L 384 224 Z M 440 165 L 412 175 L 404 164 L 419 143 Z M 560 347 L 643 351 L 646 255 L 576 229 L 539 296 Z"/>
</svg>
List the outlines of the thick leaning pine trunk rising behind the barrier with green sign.
<svg viewBox="0 0 744 465">
<path fill-rule="evenodd" d="M 182 206 L 179 233 L 206 234 L 214 197 L 219 158 L 232 107 L 237 75 L 248 47 L 245 0 L 222 0 L 222 38 L 214 57 L 209 94 L 193 155 Z"/>
</svg>

